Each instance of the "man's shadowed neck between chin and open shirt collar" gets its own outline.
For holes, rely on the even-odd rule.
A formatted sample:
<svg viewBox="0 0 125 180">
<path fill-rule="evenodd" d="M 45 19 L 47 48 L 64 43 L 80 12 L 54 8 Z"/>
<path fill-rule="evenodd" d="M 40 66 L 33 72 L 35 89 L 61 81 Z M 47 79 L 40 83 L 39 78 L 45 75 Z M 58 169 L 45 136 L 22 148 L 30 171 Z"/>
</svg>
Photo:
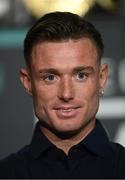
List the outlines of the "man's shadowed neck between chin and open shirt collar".
<svg viewBox="0 0 125 180">
<path fill-rule="evenodd" d="M 86 127 L 84 127 L 76 135 L 67 138 L 61 138 L 60 136 L 57 136 L 55 133 L 43 126 L 41 126 L 41 131 L 49 139 L 51 143 L 53 143 L 57 148 L 63 150 L 64 153 L 68 155 L 68 152 L 71 149 L 71 147 L 82 141 L 92 131 L 94 127 L 95 120 L 89 122 L 88 125 L 86 125 Z"/>
</svg>

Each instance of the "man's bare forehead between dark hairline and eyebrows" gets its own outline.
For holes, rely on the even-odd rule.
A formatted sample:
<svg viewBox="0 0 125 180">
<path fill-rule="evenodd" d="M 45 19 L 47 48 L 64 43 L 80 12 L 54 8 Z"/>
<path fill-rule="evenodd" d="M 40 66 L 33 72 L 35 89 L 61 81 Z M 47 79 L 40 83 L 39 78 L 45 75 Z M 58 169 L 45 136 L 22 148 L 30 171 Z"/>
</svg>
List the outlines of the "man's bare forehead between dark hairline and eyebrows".
<svg viewBox="0 0 125 180">
<path fill-rule="evenodd" d="M 88 38 L 42 42 L 32 51 L 32 66 L 77 66 L 97 63 L 97 49 Z"/>
</svg>

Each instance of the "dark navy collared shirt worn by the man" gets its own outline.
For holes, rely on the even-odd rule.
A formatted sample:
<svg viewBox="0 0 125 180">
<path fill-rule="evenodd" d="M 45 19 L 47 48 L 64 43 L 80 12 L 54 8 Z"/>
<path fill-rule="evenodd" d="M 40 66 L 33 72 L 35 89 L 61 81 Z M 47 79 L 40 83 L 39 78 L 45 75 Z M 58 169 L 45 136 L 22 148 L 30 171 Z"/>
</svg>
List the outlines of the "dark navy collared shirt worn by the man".
<svg viewBox="0 0 125 180">
<path fill-rule="evenodd" d="M 101 123 L 68 155 L 36 125 L 31 144 L 0 161 L 0 178 L 125 179 L 125 148 L 109 141 Z"/>
</svg>

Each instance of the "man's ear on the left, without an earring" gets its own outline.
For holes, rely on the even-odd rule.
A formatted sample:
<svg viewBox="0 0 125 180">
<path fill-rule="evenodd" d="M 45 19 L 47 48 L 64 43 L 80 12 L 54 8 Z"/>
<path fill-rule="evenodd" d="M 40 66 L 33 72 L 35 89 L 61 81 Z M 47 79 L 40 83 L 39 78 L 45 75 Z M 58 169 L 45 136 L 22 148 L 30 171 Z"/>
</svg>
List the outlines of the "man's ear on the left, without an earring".
<svg viewBox="0 0 125 180">
<path fill-rule="evenodd" d="M 22 68 L 20 70 L 20 80 L 26 92 L 32 95 L 31 78 L 27 69 Z"/>
</svg>

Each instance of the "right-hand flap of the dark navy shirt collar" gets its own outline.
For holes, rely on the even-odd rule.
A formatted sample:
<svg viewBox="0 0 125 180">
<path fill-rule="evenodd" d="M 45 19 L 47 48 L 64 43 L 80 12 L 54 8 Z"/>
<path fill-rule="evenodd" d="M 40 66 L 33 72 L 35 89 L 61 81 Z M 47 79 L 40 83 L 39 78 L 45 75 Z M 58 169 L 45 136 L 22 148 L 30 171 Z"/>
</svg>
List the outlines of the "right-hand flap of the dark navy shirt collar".
<svg viewBox="0 0 125 180">
<path fill-rule="evenodd" d="M 101 157 L 108 157 L 113 152 L 107 133 L 98 120 L 96 120 L 95 128 L 81 141 L 81 144 Z"/>
</svg>

